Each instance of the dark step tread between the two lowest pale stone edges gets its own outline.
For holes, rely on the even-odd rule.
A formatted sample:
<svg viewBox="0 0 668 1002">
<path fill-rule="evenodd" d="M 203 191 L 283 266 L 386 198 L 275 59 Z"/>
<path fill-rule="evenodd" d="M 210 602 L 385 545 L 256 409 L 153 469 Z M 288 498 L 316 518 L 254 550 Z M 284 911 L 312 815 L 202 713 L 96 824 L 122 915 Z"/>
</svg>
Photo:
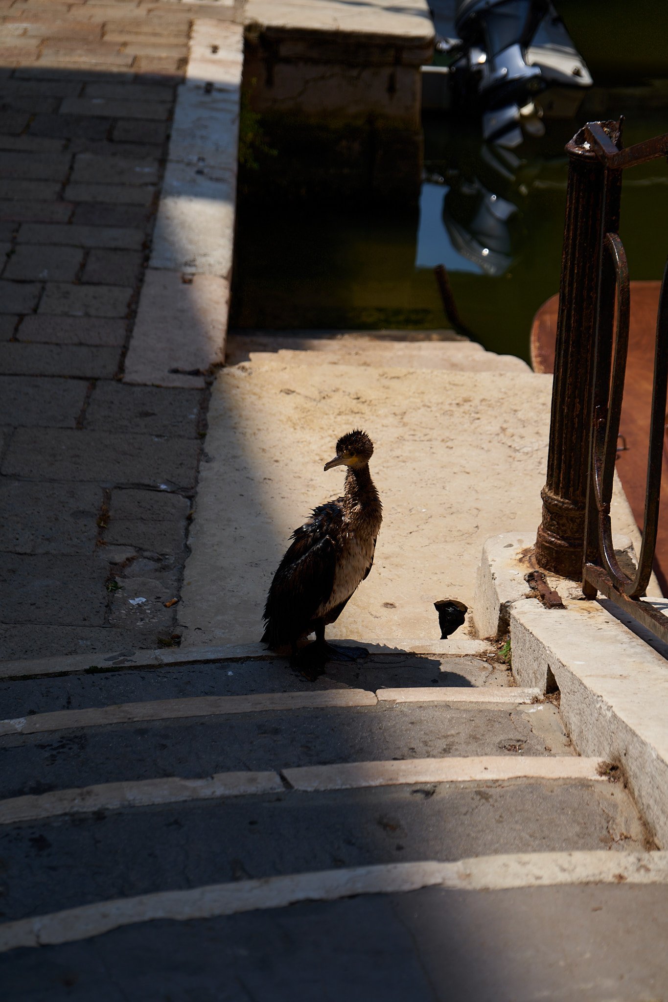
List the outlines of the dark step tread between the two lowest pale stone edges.
<svg viewBox="0 0 668 1002">
<path fill-rule="evenodd" d="M 3 919 L 340 867 L 603 847 L 642 852 L 643 838 L 623 787 L 600 780 L 285 790 L 99 810 L 0 829 Z"/>
</svg>

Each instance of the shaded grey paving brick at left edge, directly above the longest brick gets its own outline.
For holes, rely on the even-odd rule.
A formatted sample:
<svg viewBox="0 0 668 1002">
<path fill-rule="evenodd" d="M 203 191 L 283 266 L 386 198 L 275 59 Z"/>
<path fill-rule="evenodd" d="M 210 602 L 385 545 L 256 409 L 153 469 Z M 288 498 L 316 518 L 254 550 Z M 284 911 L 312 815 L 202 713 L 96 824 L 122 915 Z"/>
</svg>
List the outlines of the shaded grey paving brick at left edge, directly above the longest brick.
<svg viewBox="0 0 668 1002">
<path fill-rule="evenodd" d="M 0 425 L 74 428 L 87 389 L 81 380 L 0 376 Z"/>
</svg>

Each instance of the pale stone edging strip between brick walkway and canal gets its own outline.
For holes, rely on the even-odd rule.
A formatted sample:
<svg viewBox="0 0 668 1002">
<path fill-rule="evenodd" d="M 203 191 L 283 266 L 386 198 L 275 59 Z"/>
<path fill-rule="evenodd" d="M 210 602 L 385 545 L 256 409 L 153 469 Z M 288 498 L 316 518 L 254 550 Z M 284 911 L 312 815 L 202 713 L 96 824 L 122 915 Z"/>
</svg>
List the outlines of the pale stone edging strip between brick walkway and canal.
<svg viewBox="0 0 668 1002">
<path fill-rule="evenodd" d="M 242 64 L 240 25 L 194 20 L 126 383 L 203 389 L 224 363 Z"/>
</svg>

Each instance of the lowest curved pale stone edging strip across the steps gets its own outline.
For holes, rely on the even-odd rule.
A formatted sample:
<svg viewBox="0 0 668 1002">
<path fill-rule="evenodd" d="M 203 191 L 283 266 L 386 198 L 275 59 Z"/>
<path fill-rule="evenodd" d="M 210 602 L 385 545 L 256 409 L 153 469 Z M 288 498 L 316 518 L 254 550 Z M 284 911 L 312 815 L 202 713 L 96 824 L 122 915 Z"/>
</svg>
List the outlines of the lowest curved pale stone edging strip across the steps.
<svg viewBox="0 0 668 1002">
<path fill-rule="evenodd" d="M 0 926 L 0 953 L 75 943 L 141 922 L 210 919 L 360 894 L 402 894 L 426 887 L 487 892 L 620 883 L 668 885 L 668 853 L 519 853 L 455 863 L 390 863 L 162 891 L 7 922 Z"/>
</svg>

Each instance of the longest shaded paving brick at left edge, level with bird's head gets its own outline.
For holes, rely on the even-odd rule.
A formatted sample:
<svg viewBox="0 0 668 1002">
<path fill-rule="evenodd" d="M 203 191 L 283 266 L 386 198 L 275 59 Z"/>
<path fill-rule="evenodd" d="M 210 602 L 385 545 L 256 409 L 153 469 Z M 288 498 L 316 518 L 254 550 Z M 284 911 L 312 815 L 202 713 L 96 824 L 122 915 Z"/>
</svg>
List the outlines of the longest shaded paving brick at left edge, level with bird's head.
<svg viewBox="0 0 668 1002">
<path fill-rule="evenodd" d="M 2 473 L 41 480 L 48 471 L 49 480 L 191 489 L 197 455 L 198 443 L 191 439 L 19 428 L 5 453 Z"/>
</svg>

